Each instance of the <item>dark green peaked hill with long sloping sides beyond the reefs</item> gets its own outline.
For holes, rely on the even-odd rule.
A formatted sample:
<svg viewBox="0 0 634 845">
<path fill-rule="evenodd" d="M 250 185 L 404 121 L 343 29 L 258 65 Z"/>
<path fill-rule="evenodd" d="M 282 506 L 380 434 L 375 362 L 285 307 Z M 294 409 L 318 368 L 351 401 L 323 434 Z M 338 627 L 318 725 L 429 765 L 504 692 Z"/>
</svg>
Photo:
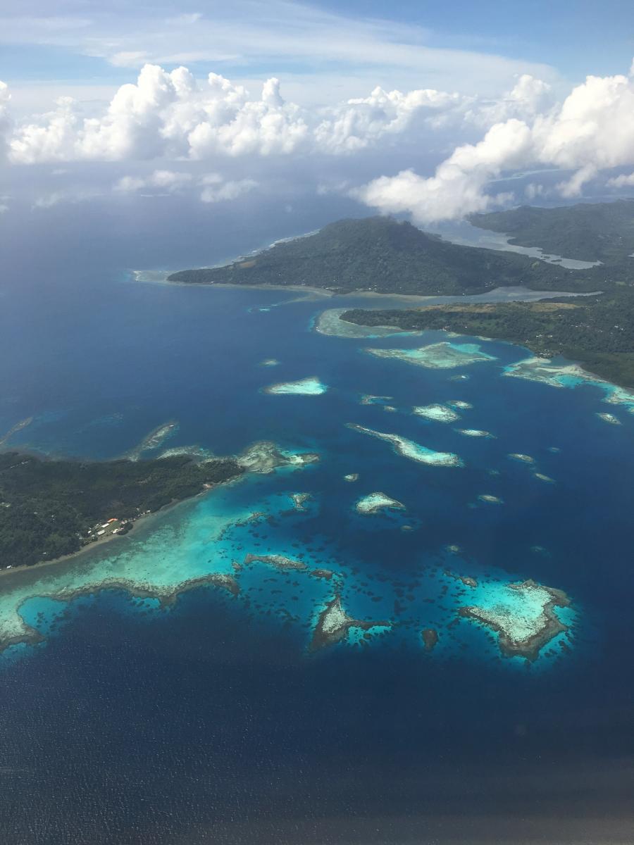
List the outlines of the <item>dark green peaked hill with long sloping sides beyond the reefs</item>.
<svg viewBox="0 0 634 845">
<path fill-rule="evenodd" d="M 565 270 L 524 255 L 457 246 L 389 217 L 331 223 L 248 259 L 224 267 L 181 270 L 168 281 L 440 295 L 516 285 L 542 291 L 593 291 L 598 283 L 588 270 Z"/>
</svg>

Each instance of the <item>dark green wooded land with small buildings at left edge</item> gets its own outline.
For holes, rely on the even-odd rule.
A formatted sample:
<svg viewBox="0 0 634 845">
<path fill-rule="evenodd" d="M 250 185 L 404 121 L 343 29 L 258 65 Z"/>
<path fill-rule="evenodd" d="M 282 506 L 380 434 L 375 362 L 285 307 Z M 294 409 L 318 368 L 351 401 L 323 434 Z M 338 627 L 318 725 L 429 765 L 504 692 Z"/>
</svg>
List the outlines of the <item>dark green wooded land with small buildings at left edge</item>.
<svg viewBox="0 0 634 845">
<path fill-rule="evenodd" d="M 141 515 L 238 477 L 234 458 L 48 461 L 0 454 L 0 560 L 3 568 L 73 554 L 125 534 Z"/>
</svg>

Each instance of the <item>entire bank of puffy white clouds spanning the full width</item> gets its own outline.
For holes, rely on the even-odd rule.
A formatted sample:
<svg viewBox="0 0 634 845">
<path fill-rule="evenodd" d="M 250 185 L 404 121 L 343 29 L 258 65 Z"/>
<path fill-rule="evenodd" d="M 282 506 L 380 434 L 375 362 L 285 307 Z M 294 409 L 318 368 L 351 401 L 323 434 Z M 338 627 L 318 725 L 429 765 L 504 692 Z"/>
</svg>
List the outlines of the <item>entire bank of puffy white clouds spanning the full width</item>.
<svg viewBox="0 0 634 845">
<path fill-rule="evenodd" d="M 471 140 L 445 152 L 432 175 L 407 166 L 413 150 L 434 145 L 446 150 L 447 138 Z M 355 168 L 349 162 L 362 155 L 368 161 L 372 150 L 374 172 L 385 175 L 351 188 Z M 160 163 L 150 175 L 120 178 L 118 193 L 191 190 L 203 202 L 216 203 L 260 183 L 253 178 L 256 160 L 315 156 L 325 162 L 322 184 L 339 183 L 342 193 L 370 208 L 406 213 L 420 224 L 516 200 L 507 191 L 496 193 L 493 183 L 527 169 L 560 170 L 555 192 L 574 198 L 602 172 L 634 166 L 634 78 L 588 76 L 559 103 L 547 83 L 522 74 L 498 99 L 375 87 L 366 97 L 307 109 L 287 101 L 276 78 L 253 96 L 219 74 L 199 81 L 187 68 L 168 72 L 145 64 L 136 82 L 122 85 L 101 113 L 86 116 L 79 103 L 63 97 L 52 112 L 25 123 L 11 121 L 8 88 L 0 84 L 0 157 L 9 166 Z M 341 166 L 336 175 L 328 172 L 327 162 L 336 159 L 345 162 L 345 178 Z M 236 160 L 242 162 L 238 177 L 216 172 L 222 162 Z M 391 161 L 402 168 L 396 175 L 385 173 Z M 182 164 L 170 166 L 173 162 Z M 208 163 L 213 172 L 201 173 Z M 626 188 L 634 184 L 634 174 L 605 173 L 604 182 Z M 527 199 L 544 195 L 539 183 L 526 188 Z"/>
</svg>

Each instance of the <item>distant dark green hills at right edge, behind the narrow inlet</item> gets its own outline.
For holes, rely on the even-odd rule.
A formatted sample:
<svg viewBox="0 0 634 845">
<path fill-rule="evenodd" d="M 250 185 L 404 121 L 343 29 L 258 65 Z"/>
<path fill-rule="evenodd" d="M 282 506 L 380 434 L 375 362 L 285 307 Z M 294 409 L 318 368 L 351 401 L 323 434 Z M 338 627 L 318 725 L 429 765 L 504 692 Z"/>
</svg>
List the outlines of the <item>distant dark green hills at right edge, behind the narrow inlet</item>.
<svg viewBox="0 0 634 845">
<path fill-rule="evenodd" d="M 545 254 L 581 261 L 615 264 L 634 253 L 634 200 L 580 203 L 544 209 L 530 205 L 510 211 L 472 215 L 480 229 L 511 235 L 522 247 L 540 247 Z"/>
</svg>

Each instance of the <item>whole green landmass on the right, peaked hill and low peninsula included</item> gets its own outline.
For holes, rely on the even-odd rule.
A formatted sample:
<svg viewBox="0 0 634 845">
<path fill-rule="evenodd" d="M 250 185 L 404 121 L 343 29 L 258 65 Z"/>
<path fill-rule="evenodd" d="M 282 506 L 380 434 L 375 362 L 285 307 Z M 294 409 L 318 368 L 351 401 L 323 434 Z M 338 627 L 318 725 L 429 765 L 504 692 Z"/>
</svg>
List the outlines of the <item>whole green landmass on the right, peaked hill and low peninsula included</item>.
<svg viewBox="0 0 634 845">
<path fill-rule="evenodd" d="M 547 302 L 354 308 L 337 313 L 336 323 L 352 333 L 355 328 L 379 333 L 434 329 L 509 341 L 540 358 L 566 357 L 599 379 L 634 387 L 634 200 L 551 209 L 522 206 L 473 215 L 470 221 L 506 232 L 511 243 L 601 263 L 566 270 L 512 252 L 447 243 L 389 217 L 369 217 L 331 223 L 224 267 L 182 270 L 169 281 L 312 286 L 336 293 L 453 296 L 525 286 L 590 294 Z"/>
</svg>

